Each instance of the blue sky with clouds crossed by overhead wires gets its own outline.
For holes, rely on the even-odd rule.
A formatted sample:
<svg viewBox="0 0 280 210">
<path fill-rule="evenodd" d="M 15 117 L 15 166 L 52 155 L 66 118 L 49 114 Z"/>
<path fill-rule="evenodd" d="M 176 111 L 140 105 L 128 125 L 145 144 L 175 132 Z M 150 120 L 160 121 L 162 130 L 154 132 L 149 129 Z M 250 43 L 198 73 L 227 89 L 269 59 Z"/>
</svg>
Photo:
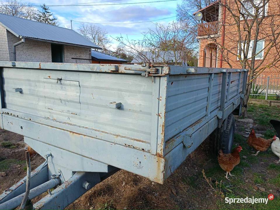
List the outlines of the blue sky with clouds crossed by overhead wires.
<svg viewBox="0 0 280 210">
<path fill-rule="evenodd" d="M 135 3 L 147 1 L 163 1 L 163 0 L 114 0 L 111 2 L 104 2 L 109 0 L 31 0 L 24 2 L 31 2 L 34 5 L 45 3 L 46 5 L 65 5 L 65 4 L 116 4 L 116 3 Z M 182 0 L 167 1 L 167 2 L 154 2 L 154 3 L 141 3 L 141 4 L 124 4 L 124 5 L 103 5 L 103 6 L 61 6 L 50 7 L 50 11 L 58 18 L 60 27 L 70 27 L 70 20 L 95 22 L 95 23 L 129 23 L 158 20 L 166 17 L 171 17 L 165 20 L 155 21 L 160 24 L 168 24 L 169 22 L 176 21 L 176 8 L 177 4 L 181 4 Z M 155 23 L 154 22 L 154 23 Z M 100 27 L 105 28 L 108 36 L 114 38 L 126 37 L 129 39 L 141 39 L 141 33 L 147 31 L 148 28 L 154 28 L 152 22 L 137 23 L 137 24 L 98 24 Z M 74 30 L 79 28 L 79 22 L 72 22 Z M 111 49 L 117 46 L 117 41 L 112 40 Z"/>
</svg>

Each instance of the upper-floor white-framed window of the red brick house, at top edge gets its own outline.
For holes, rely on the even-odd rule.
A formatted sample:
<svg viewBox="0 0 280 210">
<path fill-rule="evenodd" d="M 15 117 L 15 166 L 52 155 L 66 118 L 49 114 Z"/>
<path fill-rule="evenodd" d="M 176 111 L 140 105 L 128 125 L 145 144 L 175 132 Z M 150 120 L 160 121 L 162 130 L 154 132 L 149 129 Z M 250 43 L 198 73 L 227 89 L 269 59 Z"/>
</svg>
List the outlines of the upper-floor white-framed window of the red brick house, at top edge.
<svg viewBox="0 0 280 210">
<path fill-rule="evenodd" d="M 261 7 L 263 5 L 263 3 L 265 4 L 265 15 L 267 15 L 267 10 L 268 10 L 268 1 L 264 0 L 265 2 L 263 2 L 262 0 L 244 0 L 242 1 L 243 6 L 241 5 L 241 13 L 244 14 L 244 16 L 248 19 L 253 18 L 255 16 L 255 8 L 252 5 L 252 2 L 257 6 L 257 7 Z M 262 10 L 263 7 L 259 9 L 258 12 L 258 16 L 261 17 L 262 16 Z M 243 16 L 240 15 L 240 19 L 243 19 Z"/>
</svg>

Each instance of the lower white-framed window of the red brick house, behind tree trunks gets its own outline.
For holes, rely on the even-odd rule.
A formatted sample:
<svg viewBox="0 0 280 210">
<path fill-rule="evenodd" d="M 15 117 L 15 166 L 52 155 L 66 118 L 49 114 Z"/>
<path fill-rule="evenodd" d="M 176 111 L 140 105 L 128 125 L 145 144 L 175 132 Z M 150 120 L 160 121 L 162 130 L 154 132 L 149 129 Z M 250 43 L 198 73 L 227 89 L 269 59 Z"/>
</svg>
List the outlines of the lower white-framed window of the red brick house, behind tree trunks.
<svg viewBox="0 0 280 210">
<path fill-rule="evenodd" d="M 252 57 L 252 51 L 253 51 L 253 44 L 254 40 L 250 41 L 250 46 L 249 46 L 249 51 L 248 51 L 248 58 Z M 244 58 L 244 50 L 246 50 L 247 43 L 246 42 L 241 42 L 241 59 L 243 60 Z M 256 55 L 255 59 L 262 59 L 264 55 L 264 48 L 265 48 L 265 40 L 259 40 L 257 41 L 257 47 L 256 47 Z M 239 55 L 239 45 L 237 47 L 237 55 Z M 237 60 L 238 57 L 237 57 Z"/>
</svg>

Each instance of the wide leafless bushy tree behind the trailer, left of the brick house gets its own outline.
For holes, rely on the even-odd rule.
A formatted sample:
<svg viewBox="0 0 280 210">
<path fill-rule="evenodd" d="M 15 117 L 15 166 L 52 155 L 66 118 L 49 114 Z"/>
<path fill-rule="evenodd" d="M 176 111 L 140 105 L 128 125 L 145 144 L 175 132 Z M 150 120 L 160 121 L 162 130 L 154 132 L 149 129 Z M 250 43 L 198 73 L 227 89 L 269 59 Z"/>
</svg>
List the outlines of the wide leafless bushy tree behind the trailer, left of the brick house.
<svg viewBox="0 0 280 210">
<path fill-rule="evenodd" d="M 142 36 L 141 40 L 130 40 L 128 36 L 115 40 L 139 62 L 153 60 L 155 63 L 172 62 L 175 65 L 187 58 L 190 52 L 187 46 L 191 46 L 194 41 L 183 22 L 173 22 L 167 26 L 155 24 L 154 29 L 149 28 Z"/>
</svg>

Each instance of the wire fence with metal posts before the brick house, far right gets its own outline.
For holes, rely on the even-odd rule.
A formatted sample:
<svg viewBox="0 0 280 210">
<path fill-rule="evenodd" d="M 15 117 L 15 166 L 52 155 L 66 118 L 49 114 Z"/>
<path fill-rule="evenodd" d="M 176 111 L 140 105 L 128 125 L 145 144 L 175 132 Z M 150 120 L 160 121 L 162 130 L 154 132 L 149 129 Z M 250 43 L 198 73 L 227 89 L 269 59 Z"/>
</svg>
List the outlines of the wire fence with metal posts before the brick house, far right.
<svg viewBox="0 0 280 210">
<path fill-rule="evenodd" d="M 252 85 L 250 98 L 280 100 L 280 74 L 270 76 L 258 76 Z"/>
</svg>

